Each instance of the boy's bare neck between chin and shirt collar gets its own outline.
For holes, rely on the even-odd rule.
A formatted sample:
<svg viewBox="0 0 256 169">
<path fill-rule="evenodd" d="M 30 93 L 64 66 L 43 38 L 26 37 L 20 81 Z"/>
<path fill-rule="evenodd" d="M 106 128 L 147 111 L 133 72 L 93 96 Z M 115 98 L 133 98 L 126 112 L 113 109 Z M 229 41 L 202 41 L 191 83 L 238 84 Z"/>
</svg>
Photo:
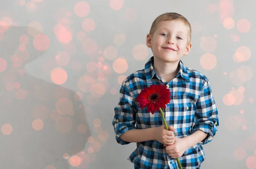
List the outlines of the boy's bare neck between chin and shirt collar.
<svg viewBox="0 0 256 169">
<path fill-rule="evenodd" d="M 157 76 L 160 76 L 166 82 L 170 82 L 179 72 L 179 62 L 180 60 L 177 62 L 164 62 L 157 57 L 154 57 L 153 68 Z"/>
</svg>

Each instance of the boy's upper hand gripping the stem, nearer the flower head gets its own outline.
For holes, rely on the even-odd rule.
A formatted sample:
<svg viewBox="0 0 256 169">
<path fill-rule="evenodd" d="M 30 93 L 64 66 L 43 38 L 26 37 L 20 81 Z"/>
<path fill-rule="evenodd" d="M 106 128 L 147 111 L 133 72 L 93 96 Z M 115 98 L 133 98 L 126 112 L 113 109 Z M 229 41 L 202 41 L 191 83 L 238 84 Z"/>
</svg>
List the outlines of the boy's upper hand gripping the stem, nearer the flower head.
<svg viewBox="0 0 256 169">
<path fill-rule="evenodd" d="M 172 145 L 175 141 L 175 129 L 172 126 L 168 126 L 168 129 L 169 130 L 166 130 L 164 125 L 156 127 L 155 140 L 159 141 L 162 144 Z"/>
</svg>

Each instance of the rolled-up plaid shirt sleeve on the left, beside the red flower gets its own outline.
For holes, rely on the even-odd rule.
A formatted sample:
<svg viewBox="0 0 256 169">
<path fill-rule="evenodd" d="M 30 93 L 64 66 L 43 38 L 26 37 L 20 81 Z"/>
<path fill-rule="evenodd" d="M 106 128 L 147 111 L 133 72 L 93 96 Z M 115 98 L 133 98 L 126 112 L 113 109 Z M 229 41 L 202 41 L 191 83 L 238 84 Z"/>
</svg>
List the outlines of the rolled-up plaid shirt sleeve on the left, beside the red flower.
<svg viewBox="0 0 256 169">
<path fill-rule="evenodd" d="M 129 144 L 131 142 L 122 141 L 120 136 L 129 130 L 136 129 L 136 111 L 134 110 L 134 107 L 136 107 L 135 101 L 125 85 L 125 82 L 123 82 L 120 88 L 119 103 L 114 108 L 115 116 L 112 121 L 116 134 L 116 141 L 121 145 Z"/>
</svg>

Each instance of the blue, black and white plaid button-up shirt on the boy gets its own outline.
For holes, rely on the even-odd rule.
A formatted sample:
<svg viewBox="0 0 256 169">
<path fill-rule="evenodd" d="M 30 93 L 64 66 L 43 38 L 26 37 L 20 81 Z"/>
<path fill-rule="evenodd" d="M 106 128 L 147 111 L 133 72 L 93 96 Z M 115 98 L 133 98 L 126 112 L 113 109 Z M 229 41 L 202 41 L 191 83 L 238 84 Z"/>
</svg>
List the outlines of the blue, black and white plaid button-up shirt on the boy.
<svg viewBox="0 0 256 169">
<path fill-rule="evenodd" d="M 179 62 L 179 72 L 171 82 L 166 82 L 154 72 L 154 58 L 145 64 L 145 69 L 128 76 L 120 89 L 119 104 L 114 108 L 113 127 L 116 141 L 129 144 L 120 136 L 132 129 L 145 129 L 163 125 L 160 112 L 153 115 L 146 108 L 141 110 L 136 101 L 140 91 L 152 84 L 164 84 L 171 90 L 171 101 L 163 108 L 167 124 L 175 128 L 175 137 L 183 138 L 195 130 L 202 130 L 208 136 L 200 143 L 187 149 L 179 158 L 183 169 L 197 169 L 204 161 L 202 144 L 212 141 L 218 130 L 218 110 L 212 96 L 209 80 L 196 70 Z M 128 158 L 135 169 L 177 169 L 177 161 L 172 159 L 166 149 L 156 140 L 137 143 L 137 148 Z"/>
</svg>

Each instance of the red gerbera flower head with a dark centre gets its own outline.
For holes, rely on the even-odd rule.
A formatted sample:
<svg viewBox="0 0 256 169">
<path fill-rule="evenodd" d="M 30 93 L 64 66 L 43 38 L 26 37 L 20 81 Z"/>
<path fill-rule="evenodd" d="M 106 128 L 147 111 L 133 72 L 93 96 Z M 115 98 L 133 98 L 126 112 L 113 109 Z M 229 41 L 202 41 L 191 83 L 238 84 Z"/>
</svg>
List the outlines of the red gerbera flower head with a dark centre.
<svg viewBox="0 0 256 169">
<path fill-rule="evenodd" d="M 154 114 L 160 108 L 166 108 L 170 102 L 170 90 L 165 85 L 151 85 L 141 90 L 137 96 L 137 102 L 141 109 L 147 107 L 148 112 Z"/>
</svg>

